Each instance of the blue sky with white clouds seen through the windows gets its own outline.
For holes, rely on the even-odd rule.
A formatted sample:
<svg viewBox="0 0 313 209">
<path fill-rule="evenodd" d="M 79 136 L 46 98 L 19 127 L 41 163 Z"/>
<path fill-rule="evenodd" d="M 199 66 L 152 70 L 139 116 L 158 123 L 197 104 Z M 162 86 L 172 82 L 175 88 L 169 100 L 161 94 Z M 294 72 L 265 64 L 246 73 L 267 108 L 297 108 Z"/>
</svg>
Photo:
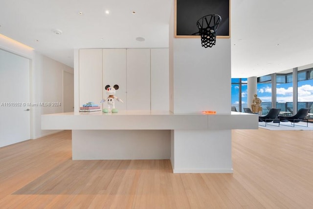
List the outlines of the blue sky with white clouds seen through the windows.
<svg viewBox="0 0 313 209">
<path fill-rule="evenodd" d="M 257 87 L 258 97 L 262 102 L 271 102 L 271 84 L 262 83 Z M 279 103 L 292 102 L 292 83 L 277 84 L 276 100 Z M 231 103 L 239 103 L 239 87 L 231 85 Z M 242 85 L 242 103 L 247 103 L 247 86 Z M 313 101 L 313 79 L 298 82 L 298 101 L 312 102 Z"/>
</svg>

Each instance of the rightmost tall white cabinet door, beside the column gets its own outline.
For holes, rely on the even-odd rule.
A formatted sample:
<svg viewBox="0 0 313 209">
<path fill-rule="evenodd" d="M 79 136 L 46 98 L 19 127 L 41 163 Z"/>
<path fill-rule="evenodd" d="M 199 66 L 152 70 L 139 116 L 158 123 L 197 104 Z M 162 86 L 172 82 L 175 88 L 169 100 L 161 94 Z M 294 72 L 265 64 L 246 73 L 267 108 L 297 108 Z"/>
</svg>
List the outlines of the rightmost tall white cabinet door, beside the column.
<svg viewBox="0 0 313 209">
<path fill-rule="evenodd" d="M 169 110 L 168 48 L 151 49 L 151 110 Z"/>
</svg>

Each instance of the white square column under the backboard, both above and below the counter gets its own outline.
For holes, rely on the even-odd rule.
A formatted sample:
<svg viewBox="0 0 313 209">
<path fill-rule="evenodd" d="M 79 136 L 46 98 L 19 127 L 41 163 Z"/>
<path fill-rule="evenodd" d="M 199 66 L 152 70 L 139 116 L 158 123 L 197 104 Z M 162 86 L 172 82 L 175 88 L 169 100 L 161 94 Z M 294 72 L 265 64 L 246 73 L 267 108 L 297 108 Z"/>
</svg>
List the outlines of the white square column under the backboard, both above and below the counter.
<svg viewBox="0 0 313 209">
<path fill-rule="evenodd" d="M 169 34 L 170 110 L 230 114 L 230 39 L 204 48 L 200 38 L 174 38 L 174 9 Z M 171 163 L 174 173 L 231 173 L 231 130 L 173 130 Z"/>
</svg>

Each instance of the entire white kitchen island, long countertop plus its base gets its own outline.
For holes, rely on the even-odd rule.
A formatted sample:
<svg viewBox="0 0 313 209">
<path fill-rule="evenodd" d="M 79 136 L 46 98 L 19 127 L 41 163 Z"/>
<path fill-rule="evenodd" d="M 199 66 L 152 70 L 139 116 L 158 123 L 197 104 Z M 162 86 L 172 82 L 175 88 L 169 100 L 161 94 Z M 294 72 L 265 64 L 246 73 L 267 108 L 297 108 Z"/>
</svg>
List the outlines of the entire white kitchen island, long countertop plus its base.
<svg viewBox="0 0 313 209">
<path fill-rule="evenodd" d="M 170 159 L 174 173 L 231 173 L 231 129 L 257 129 L 254 114 L 169 111 L 60 113 L 42 129 L 72 130 L 73 160 Z"/>
</svg>

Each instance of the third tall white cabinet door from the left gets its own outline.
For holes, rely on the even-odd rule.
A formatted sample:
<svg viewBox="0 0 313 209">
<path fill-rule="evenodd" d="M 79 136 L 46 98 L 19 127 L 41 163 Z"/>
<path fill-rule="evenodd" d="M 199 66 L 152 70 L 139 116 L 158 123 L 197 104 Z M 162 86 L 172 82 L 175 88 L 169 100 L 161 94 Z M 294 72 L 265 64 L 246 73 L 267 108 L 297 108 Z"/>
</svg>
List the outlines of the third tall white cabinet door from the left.
<svg viewBox="0 0 313 209">
<path fill-rule="evenodd" d="M 150 110 L 150 49 L 127 49 L 127 110 Z"/>
</svg>

